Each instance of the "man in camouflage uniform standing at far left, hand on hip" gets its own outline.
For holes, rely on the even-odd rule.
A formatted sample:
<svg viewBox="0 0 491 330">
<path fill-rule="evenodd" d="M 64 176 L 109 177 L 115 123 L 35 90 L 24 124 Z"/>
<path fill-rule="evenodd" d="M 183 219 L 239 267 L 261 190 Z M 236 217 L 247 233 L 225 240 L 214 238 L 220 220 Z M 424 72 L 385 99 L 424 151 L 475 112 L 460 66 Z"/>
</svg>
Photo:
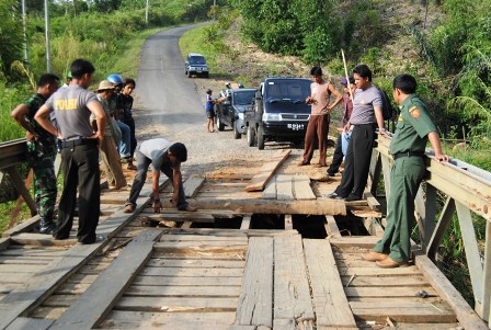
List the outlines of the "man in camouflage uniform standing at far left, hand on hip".
<svg viewBox="0 0 491 330">
<path fill-rule="evenodd" d="M 56 202 L 55 156 L 56 138 L 46 132 L 34 115 L 37 110 L 59 87 L 59 78 L 52 73 L 41 76 L 37 93 L 19 104 L 12 111 L 12 117 L 26 130 L 27 163 L 34 172 L 34 195 L 39 215 L 39 232 L 53 234 Z"/>
</svg>

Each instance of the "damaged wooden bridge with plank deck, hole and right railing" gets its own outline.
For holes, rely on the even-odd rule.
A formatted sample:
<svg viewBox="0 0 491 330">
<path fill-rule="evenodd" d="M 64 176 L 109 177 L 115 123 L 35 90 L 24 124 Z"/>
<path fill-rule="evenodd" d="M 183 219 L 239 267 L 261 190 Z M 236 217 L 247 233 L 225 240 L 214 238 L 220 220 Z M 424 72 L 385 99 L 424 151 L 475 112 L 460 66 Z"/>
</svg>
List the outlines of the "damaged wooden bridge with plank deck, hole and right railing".
<svg viewBox="0 0 491 330">
<path fill-rule="evenodd" d="M 376 197 L 381 177 L 390 185 L 388 143 L 374 152 L 363 202 L 324 198 L 340 178 L 310 180 L 284 162 L 286 151 L 247 171 L 187 169 L 196 213 L 167 205 L 155 214 L 150 183 L 130 215 L 122 212 L 128 191 L 103 191 L 105 240 L 95 244 L 53 240 L 33 232 L 35 217 L 24 221 L 0 242 L 0 329 L 488 329 L 491 227 L 481 260 L 471 213 L 490 220 L 490 173 L 429 155 L 413 262 L 379 269 L 361 259 L 382 232 Z M 0 152 L 2 171 L 14 172 L 22 146 Z M 437 192 L 447 201 L 436 220 Z M 170 195 L 162 181 L 162 200 Z M 454 213 L 476 310 L 432 262 Z M 355 219 L 372 235 L 343 236 L 343 221 Z"/>
</svg>

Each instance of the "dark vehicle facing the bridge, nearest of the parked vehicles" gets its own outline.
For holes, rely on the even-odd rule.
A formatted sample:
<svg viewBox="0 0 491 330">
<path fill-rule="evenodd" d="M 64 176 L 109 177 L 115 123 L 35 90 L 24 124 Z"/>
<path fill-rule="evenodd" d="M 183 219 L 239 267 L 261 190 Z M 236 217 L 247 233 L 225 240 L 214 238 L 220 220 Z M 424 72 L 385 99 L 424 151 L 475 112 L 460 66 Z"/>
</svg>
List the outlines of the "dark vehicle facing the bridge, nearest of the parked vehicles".
<svg viewBox="0 0 491 330">
<path fill-rule="evenodd" d="M 250 147 L 264 149 L 266 140 L 301 144 L 310 117 L 310 79 L 266 78 L 261 82 L 253 106 L 244 112 Z"/>
</svg>

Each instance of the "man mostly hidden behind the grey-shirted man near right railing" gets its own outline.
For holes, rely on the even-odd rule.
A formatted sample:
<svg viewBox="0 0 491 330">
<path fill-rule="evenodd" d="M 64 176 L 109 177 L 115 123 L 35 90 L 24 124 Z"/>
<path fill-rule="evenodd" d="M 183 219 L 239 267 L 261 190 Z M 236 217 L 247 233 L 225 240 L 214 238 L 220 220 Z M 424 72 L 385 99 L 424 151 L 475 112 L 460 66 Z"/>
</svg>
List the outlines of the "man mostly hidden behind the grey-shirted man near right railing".
<svg viewBox="0 0 491 330">
<path fill-rule="evenodd" d="M 343 78 L 343 80 L 341 81 L 341 84 L 344 88 L 343 118 L 342 118 L 343 125 L 341 126 L 342 128 L 339 128 L 339 129 L 344 129 L 344 126 L 350 121 L 351 113 L 353 112 L 353 101 L 351 100 L 351 98 L 352 98 L 352 95 L 355 94 L 356 84 L 355 84 L 355 79 L 353 77 L 350 77 L 350 86 L 347 84 L 346 77 Z M 352 89 L 351 93 L 350 93 L 349 88 Z M 342 139 L 343 139 L 343 134 L 340 133 L 340 135 L 338 136 L 338 140 L 335 141 L 335 149 L 334 149 L 334 155 L 332 156 L 332 162 L 328 169 L 329 177 L 334 177 L 335 173 L 338 173 L 341 163 L 343 162 L 344 153 L 343 153 L 343 149 L 342 149 L 342 145 L 343 145 Z"/>
</svg>

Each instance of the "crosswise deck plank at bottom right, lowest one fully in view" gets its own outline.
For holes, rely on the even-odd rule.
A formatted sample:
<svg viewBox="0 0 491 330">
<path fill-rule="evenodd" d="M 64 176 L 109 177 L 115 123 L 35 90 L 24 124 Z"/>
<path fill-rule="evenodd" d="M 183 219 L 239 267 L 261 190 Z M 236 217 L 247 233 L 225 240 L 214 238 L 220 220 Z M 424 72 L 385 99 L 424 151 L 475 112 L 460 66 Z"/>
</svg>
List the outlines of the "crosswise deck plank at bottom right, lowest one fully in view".
<svg viewBox="0 0 491 330">
<path fill-rule="evenodd" d="M 426 303 L 380 299 L 374 301 L 351 301 L 356 318 L 362 320 L 385 321 L 387 317 L 396 322 L 455 322 L 455 312 L 445 301 Z"/>
</svg>

